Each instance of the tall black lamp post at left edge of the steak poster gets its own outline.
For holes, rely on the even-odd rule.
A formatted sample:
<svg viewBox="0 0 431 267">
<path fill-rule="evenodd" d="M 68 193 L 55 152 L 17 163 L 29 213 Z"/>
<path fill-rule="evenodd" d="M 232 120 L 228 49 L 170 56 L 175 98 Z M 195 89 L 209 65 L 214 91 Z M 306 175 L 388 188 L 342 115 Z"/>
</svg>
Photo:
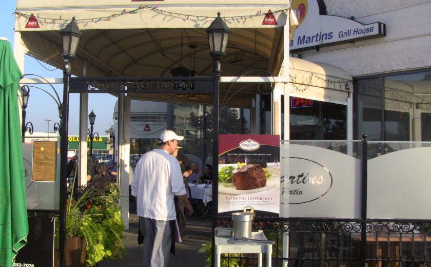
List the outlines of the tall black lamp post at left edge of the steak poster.
<svg viewBox="0 0 431 267">
<path fill-rule="evenodd" d="M 231 30 L 227 27 L 226 23 L 220 17 L 220 12 L 217 17 L 206 29 L 208 34 L 209 49 L 212 59 L 214 60 L 214 114 L 213 114 L 213 138 L 212 138 L 212 168 L 218 169 L 219 159 L 219 99 L 220 99 L 220 61 L 226 55 L 227 39 Z M 217 171 L 213 171 L 213 192 L 219 191 L 219 184 L 217 178 Z M 212 228 L 217 227 L 217 213 L 218 213 L 218 199 L 217 194 L 214 195 L 215 199 L 212 202 Z M 212 237 L 212 264 L 215 265 L 215 244 L 214 237 Z"/>
</svg>

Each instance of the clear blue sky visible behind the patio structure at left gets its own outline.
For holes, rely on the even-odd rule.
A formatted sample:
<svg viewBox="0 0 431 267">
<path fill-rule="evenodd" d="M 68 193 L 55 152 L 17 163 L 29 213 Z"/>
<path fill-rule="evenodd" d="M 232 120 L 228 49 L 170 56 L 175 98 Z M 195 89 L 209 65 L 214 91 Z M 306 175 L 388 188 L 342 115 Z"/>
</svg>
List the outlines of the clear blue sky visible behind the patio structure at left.
<svg viewBox="0 0 431 267">
<path fill-rule="evenodd" d="M 14 22 L 16 0 L 3 0 L 2 8 L 0 9 L 0 37 L 7 37 L 12 47 L 14 42 Z M 73 67 L 73 64 L 72 64 Z M 63 70 L 43 64 L 30 56 L 25 57 L 25 66 L 23 74 L 37 74 L 44 78 L 62 78 Z M 54 94 L 49 86 L 40 86 L 42 89 Z M 54 85 L 60 99 L 63 100 L 63 84 Z M 89 112 L 94 111 L 96 120 L 94 130 L 99 132 L 99 135 L 105 135 L 105 130 L 112 123 L 113 110 L 116 98 L 109 94 L 90 94 L 89 95 Z M 53 132 L 55 122 L 60 122 L 58 118 L 57 105 L 54 100 L 40 89 L 30 88 L 30 98 L 26 109 L 26 122 L 31 122 L 34 131 Z M 51 120 L 50 122 L 46 120 Z M 79 132 L 79 95 L 70 94 L 69 103 L 69 135 L 77 135 Z"/>
</svg>

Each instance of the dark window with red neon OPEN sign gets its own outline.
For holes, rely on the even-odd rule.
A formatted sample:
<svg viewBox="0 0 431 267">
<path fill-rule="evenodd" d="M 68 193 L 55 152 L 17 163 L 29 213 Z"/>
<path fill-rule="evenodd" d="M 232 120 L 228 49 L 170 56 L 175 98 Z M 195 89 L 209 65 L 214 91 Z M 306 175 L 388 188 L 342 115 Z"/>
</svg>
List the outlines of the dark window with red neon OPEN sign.
<svg viewBox="0 0 431 267">
<path fill-rule="evenodd" d="M 290 140 L 346 140 L 346 105 L 290 97 Z"/>
</svg>

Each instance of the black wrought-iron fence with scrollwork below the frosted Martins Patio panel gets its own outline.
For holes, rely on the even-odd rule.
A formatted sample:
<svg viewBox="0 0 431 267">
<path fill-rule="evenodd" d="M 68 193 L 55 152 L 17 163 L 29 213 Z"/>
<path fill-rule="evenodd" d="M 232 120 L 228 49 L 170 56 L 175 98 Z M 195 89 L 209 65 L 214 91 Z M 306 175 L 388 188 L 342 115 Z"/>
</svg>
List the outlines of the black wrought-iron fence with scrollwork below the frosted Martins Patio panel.
<svg viewBox="0 0 431 267">
<path fill-rule="evenodd" d="M 221 227 L 232 227 L 220 220 Z M 272 246 L 272 266 L 431 266 L 430 221 L 254 220 Z M 362 253 L 362 235 L 366 236 Z M 257 266 L 249 254 L 225 255 L 229 264 Z M 230 266 L 230 265 L 229 265 Z"/>
</svg>

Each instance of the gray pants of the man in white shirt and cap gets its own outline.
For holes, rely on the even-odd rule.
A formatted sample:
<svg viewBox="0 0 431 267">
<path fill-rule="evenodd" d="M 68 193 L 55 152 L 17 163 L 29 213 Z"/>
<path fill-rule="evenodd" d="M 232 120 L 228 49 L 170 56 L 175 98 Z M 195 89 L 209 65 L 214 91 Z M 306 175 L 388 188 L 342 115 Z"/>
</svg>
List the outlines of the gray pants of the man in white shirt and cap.
<svg viewBox="0 0 431 267">
<path fill-rule="evenodd" d="M 169 221 L 153 220 L 140 217 L 143 240 L 143 266 L 166 267 L 172 242 L 172 232 Z"/>
</svg>

